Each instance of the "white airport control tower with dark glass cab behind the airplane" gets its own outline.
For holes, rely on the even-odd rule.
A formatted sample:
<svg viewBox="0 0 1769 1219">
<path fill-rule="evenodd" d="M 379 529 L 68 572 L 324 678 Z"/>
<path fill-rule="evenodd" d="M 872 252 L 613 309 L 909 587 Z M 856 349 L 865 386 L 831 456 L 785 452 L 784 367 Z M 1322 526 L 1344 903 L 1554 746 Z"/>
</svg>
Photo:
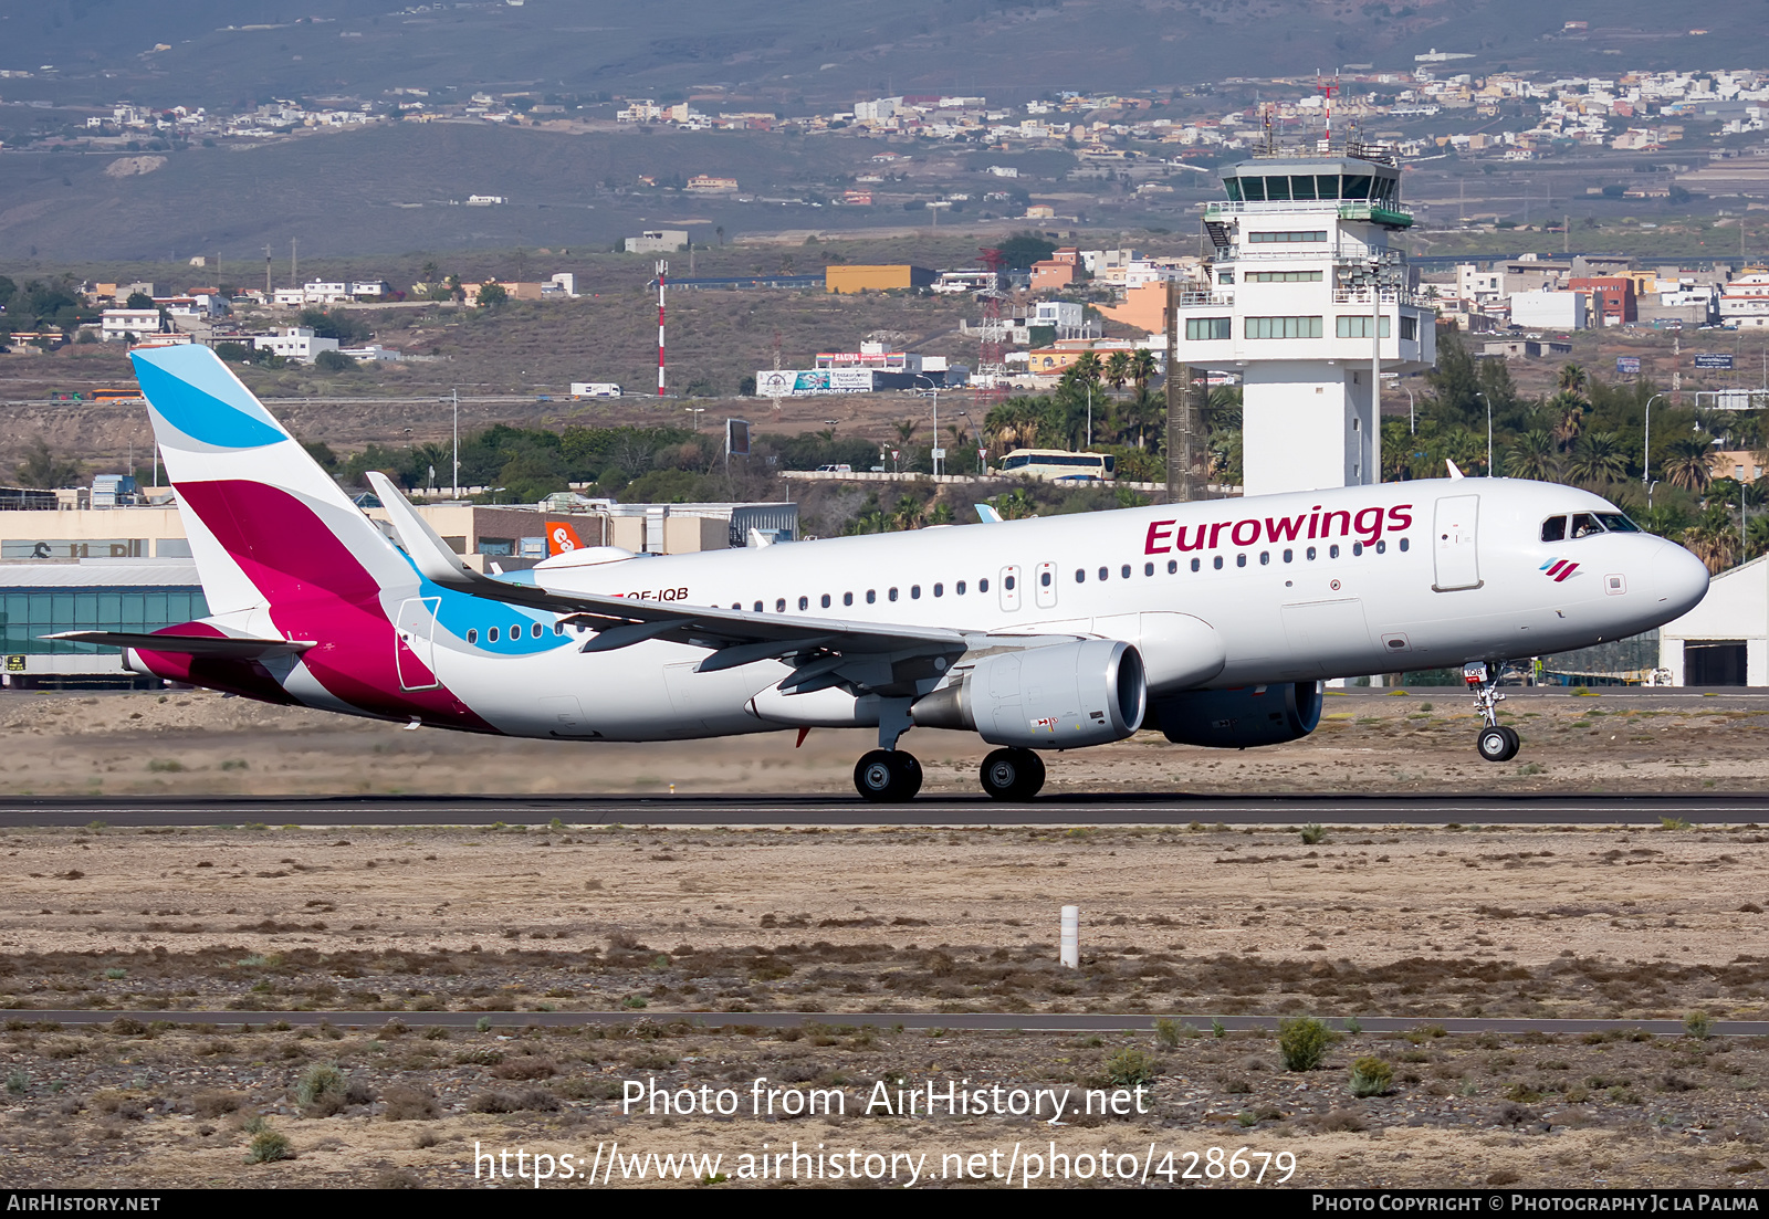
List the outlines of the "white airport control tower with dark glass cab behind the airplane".
<svg viewBox="0 0 1769 1219">
<path fill-rule="evenodd" d="M 1256 154 L 1222 184 L 1205 211 L 1210 281 L 1180 294 L 1178 359 L 1242 377 L 1245 492 L 1382 481 L 1371 389 L 1436 361 L 1435 311 L 1389 244 L 1413 223 L 1399 166 L 1348 142 Z"/>
</svg>

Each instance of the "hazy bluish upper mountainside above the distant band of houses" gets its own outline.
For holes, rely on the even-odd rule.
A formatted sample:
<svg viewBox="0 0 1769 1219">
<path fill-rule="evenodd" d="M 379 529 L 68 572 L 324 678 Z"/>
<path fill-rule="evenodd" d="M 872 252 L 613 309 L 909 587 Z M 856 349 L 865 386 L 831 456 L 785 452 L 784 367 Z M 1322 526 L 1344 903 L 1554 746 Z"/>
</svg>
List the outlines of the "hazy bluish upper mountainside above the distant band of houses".
<svg viewBox="0 0 1769 1219">
<path fill-rule="evenodd" d="M 1567 18 L 1590 28 L 1566 35 Z M 1705 35 L 1689 35 L 1698 21 Z M 570 0 L 437 4 L 370 12 L 310 0 L 48 0 L 0 14 L 9 67 L 50 64 L 14 96 L 60 104 L 239 104 L 295 96 L 377 97 L 396 87 L 571 96 L 686 96 L 810 104 L 856 94 L 987 94 L 1024 101 L 1056 88 L 1137 90 L 1231 76 L 1311 74 L 1344 62 L 1412 69 L 1431 48 L 1474 67 L 1760 62 L 1757 5 L 1698 11 L 1649 0 Z M 165 50 L 157 50 L 165 48 Z"/>
</svg>

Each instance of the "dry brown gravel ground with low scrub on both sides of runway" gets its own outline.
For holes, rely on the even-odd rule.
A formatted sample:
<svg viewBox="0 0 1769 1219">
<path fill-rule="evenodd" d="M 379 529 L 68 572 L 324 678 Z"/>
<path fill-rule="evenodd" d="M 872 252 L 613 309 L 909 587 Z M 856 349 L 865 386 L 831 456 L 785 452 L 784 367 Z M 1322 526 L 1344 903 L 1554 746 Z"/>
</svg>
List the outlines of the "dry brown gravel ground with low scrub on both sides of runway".
<svg viewBox="0 0 1769 1219">
<path fill-rule="evenodd" d="M 1474 759 L 1467 699 L 1449 694 L 1334 699 L 1337 718 L 1275 750 L 1137 738 L 1054 759 L 1053 786 L 1760 786 L 1764 720 L 1750 701 L 1514 699 L 1525 754 L 1495 768 Z M 863 748 L 842 732 L 814 732 L 803 750 L 791 736 L 442 741 L 205 694 L 7 695 L 0 743 L 16 793 L 110 794 L 842 791 Z M 918 732 L 915 745 L 932 787 L 975 782 L 975 741 Z M 1102 1148 L 1114 1184 L 1146 1161 L 1148 1184 L 1210 1185 L 1212 1166 L 1245 1146 L 1290 1154 L 1291 1185 L 1764 1187 L 1769 1039 L 1440 1037 L 1431 1023 L 1764 1019 L 1765 863 L 1757 826 L 1677 824 L 1329 824 L 1311 842 L 1300 828 L 1206 824 L 14 830 L 0 837 L 0 1184 L 472 1185 L 476 1145 L 509 1148 L 511 1166 L 517 1148 L 582 1155 L 582 1175 L 598 1146 L 607 1171 L 619 1141 L 623 1157 L 722 1154 L 713 1175 L 741 1185 L 739 1157 L 754 1173 L 764 1143 L 777 1154 L 796 1141 L 862 1175 L 867 1154 L 927 1154 L 920 1182 L 946 1185 L 961 1161 L 943 1155 L 1024 1173 L 1019 1145 L 1068 1155 L 1068 1184 L 1090 1157 L 1093 1185 Z M 1083 908 L 1079 970 L 1054 961 L 1065 902 Z M 612 1030 L 532 1030 L 522 1016 L 623 1005 L 633 1023 Z M 69 1007 L 165 1019 L 55 1028 L 32 1016 Z M 386 1010 L 387 1026 L 253 1017 L 347 1007 Z M 180 1008 L 241 1023 L 193 1028 Z M 442 1037 L 400 1023 L 437 1008 L 483 1012 L 486 1028 Z M 826 1023 L 706 1033 L 647 1021 L 647 1008 L 812 1010 Z M 844 1030 L 842 1012 L 856 1010 L 1125 1012 L 1127 1031 Z M 1160 1012 L 1270 1024 L 1215 1037 L 1199 1019 L 1162 1039 Z M 1279 1021 L 1357 1014 L 1419 1026 L 1344 1035 L 1318 1069 L 1286 1069 Z M 1352 1093 L 1364 1056 L 1389 1067 L 1378 1095 Z M 754 1115 L 757 1077 L 839 1090 L 846 1113 Z M 739 1111 L 623 1113 L 630 1079 L 731 1088 Z M 1139 1081 L 1146 1111 L 1068 1111 L 1060 1125 L 865 1113 L 879 1081 L 964 1079 L 1074 1090 L 1077 1104 L 1088 1088 Z M 255 1145 L 276 1152 L 278 1136 L 294 1159 L 246 1162 Z M 911 1162 L 895 1162 L 899 1184 Z M 1283 1162 L 1268 1162 L 1265 1184 Z M 823 1173 L 846 1184 L 828 1161 Z"/>
</svg>

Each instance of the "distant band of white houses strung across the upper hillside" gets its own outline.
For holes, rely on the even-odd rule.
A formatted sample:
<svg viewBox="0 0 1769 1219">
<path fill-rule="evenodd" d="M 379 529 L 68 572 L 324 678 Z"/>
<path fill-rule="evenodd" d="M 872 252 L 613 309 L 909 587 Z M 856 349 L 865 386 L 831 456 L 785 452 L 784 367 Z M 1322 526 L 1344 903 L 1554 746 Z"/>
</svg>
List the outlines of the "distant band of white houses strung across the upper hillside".
<svg viewBox="0 0 1769 1219">
<path fill-rule="evenodd" d="M 1456 71 L 1454 60 L 1472 58 L 1456 51 L 1415 58 L 1412 73 L 1344 65 L 1327 78 L 1231 78 L 1215 87 L 1134 96 L 1051 90 L 1024 104 L 991 103 L 984 96 L 899 94 L 817 113 L 727 108 L 716 87 L 678 101 L 396 87 L 380 97 L 276 99 L 234 113 L 203 106 L 152 110 L 119 101 L 87 115 L 80 126 L 39 124 L 23 142 L 14 133 L 12 145 L 154 150 L 175 142 L 251 143 L 387 122 L 555 131 L 660 124 L 688 131 L 847 133 L 1003 152 L 1063 147 L 1083 159 L 1159 163 L 1244 152 L 1274 133 L 1302 131 L 1330 113 L 1337 122 L 1394 138 L 1399 154 L 1408 157 L 1454 150 L 1528 161 L 1578 147 L 1659 154 L 1686 140 L 1688 124 L 1711 126 L 1719 136 L 1762 131 L 1769 108 L 1769 73 L 1755 69 L 1551 76 Z M 32 74 L 0 71 L 0 78 Z M 1217 94 L 1238 97 L 1247 90 L 1256 90 L 1260 101 L 1229 110 L 1212 106 Z M 1479 120 L 1479 129 L 1465 129 L 1470 120 Z M 1389 133 L 1387 127 L 1406 129 Z M 991 172 L 1015 177 L 1014 166 Z M 685 184 L 683 189 L 734 191 L 736 182 L 729 188 L 724 182 Z"/>
</svg>

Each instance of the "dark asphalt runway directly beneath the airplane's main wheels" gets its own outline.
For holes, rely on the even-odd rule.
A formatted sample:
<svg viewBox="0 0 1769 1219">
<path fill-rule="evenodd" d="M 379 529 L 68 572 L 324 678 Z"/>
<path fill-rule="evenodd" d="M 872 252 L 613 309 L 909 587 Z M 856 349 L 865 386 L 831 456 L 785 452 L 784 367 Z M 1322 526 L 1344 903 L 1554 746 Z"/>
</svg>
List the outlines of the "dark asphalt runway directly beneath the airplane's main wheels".
<svg viewBox="0 0 1769 1219">
<path fill-rule="evenodd" d="M 870 805 L 858 796 L 325 796 L 0 798 L 0 832 L 32 826 L 1442 826 L 1691 824 L 1769 821 L 1769 793 L 1702 796 L 1194 796 L 1054 794 L 1028 803 L 927 796 Z"/>
</svg>

